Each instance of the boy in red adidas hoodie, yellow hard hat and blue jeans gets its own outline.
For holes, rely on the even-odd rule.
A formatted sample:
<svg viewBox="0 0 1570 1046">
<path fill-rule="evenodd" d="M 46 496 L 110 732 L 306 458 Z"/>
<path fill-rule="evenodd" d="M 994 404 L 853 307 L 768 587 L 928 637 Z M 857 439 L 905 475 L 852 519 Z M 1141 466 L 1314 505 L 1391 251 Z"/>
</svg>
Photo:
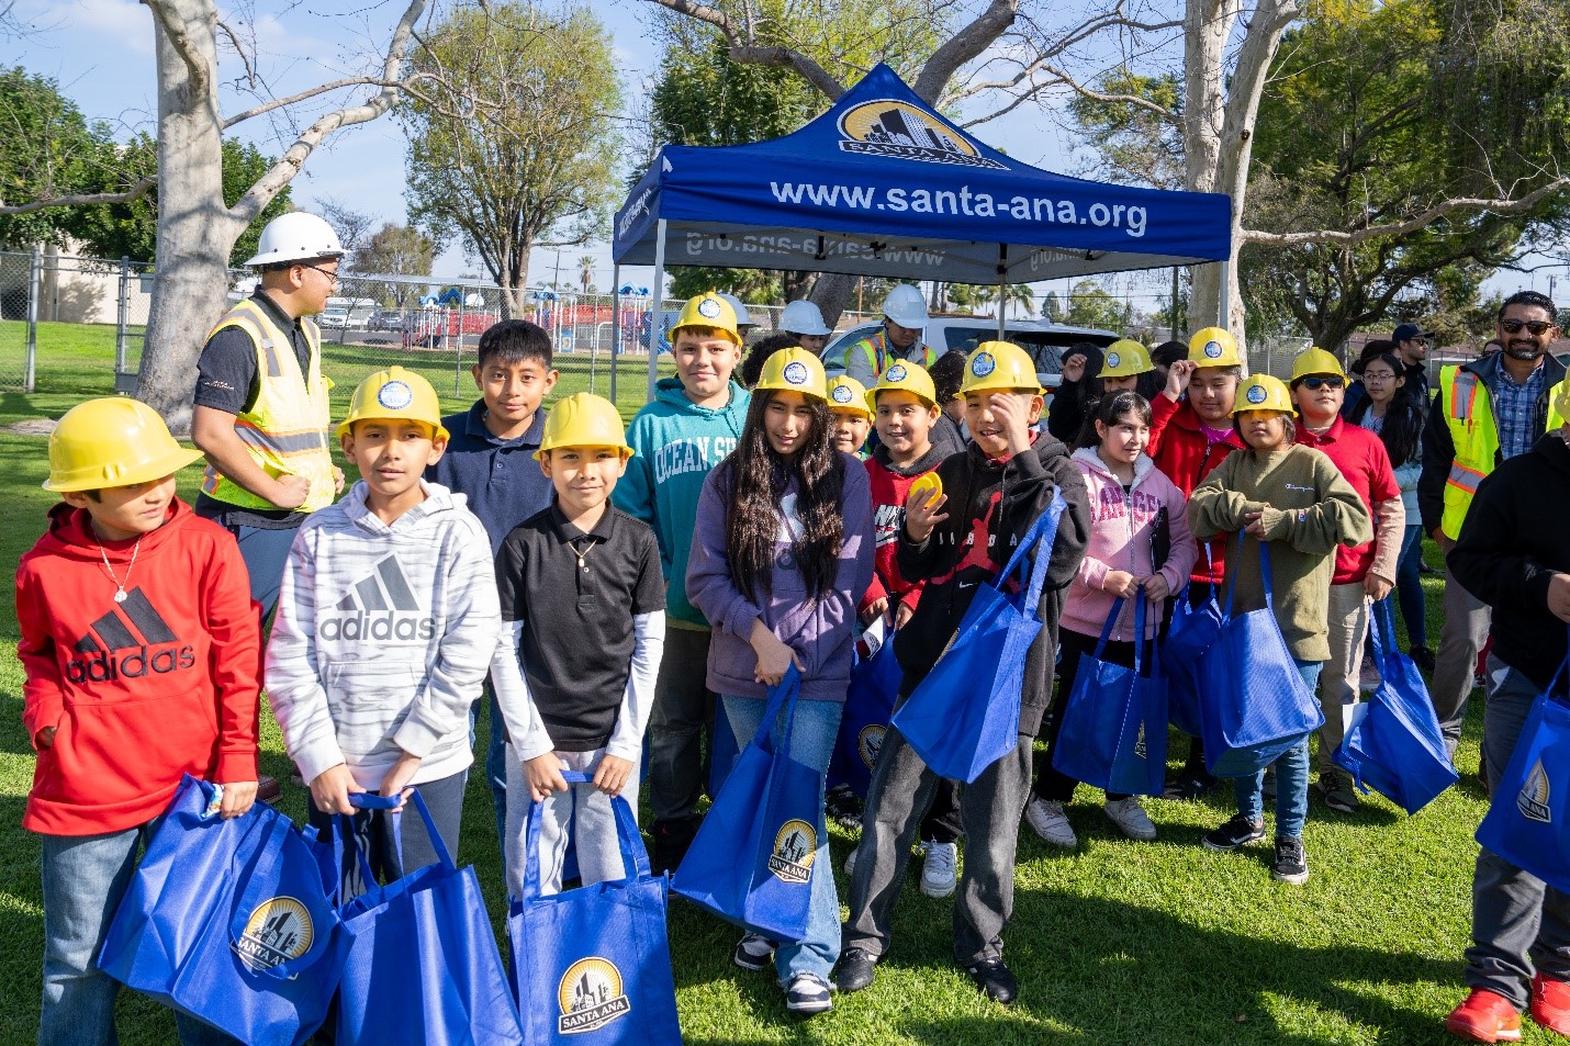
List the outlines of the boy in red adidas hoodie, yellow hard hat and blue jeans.
<svg viewBox="0 0 1570 1046">
<path fill-rule="evenodd" d="M 149 407 L 94 399 L 49 437 L 64 504 L 22 556 L 22 719 L 38 751 L 22 826 L 42 836 L 38 1041 L 115 1041 L 118 985 L 94 958 L 184 774 L 256 799 L 261 613 L 240 550 L 174 496 L 201 459 Z M 232 1043 L 176 1015 L 179 1041 Z"/>
</svg>

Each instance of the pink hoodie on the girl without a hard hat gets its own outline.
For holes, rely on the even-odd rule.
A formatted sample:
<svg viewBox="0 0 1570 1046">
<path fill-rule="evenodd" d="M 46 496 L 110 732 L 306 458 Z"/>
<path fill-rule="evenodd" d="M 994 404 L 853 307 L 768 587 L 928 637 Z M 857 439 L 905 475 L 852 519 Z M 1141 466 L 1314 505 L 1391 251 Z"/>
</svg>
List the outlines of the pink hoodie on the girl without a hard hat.
<svg viewBox="0 0 1570 1046">
<path fill-rule="evenodd" d="M 1151 531 L 1157 512 L 1167 509 L 1167 525 L 1171 531 L 1171 553 L 1162 564 L 1160 573 L 1173 595 L 1188 581 L 1188 572 L 1193 570 L 1199 550 L 1188 532 L 1187 498 L 1156 468 L 1149 455 L 1141 454 L 1134 463 L 1134 487 L 1127 493 L 1094 448 L 1074 451 L 1074 465 L 1085 474 L 1085 487 L 1090 492 L 1091 531 L 1085 561 L 1079 575 L 1069 583 L 1060 627 L 1085 636 L 1099 636 L 1116 598 L 1101 587 L 1102 581 L 1110 570 L 1127 570 L 1135 576 L 1151 573 Z M 1162 606 L 1149 609 L 1152 613 L 1145 619 L 1145 630 L 1146 635 L 1156 635 L 1162 622 Z M 1124 603 L 1112 638 L 1119 642 L 1134 639 L 1132 603 Z"/>
</svg>

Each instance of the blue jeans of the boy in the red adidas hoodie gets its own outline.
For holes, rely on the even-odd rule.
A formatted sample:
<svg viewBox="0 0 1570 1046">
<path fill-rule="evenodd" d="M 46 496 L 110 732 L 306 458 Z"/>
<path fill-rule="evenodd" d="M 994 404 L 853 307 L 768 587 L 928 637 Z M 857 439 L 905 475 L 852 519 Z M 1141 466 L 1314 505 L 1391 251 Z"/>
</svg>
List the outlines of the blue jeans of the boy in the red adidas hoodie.
<svg viewBox="0 0 1570 1046">
<path fill-rule="evenodd" d="M 105 836 L 42 836 L 44 1007 L 39 1046 L 113 1046 L 119 982 L 97 969 L 115 909 L 130 889 L 141 850 L 159 821 Z M 184 1046 L 234 1044 L 195 1018 L 174 1015 Z"/>
</svg>

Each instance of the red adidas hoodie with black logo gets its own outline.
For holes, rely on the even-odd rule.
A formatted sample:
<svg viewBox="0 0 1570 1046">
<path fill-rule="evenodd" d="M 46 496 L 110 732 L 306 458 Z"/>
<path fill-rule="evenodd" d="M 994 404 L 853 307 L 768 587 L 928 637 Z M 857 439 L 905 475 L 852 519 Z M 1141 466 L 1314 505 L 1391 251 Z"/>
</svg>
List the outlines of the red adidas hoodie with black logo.
<svg viewBox="0 0 1570 1046">
<path fill-rule="evenodd" d="M 162 814 L 181 774 L 256 781 L 261 613 L 234 537 L 176 499 L 130 567 L 135 542 L 100 545 L 86 510 L 49 517 L 16 569 L 22 721 L 35 748 L 55 727 L 22 826 L 116 832 Z"/>
</svg>

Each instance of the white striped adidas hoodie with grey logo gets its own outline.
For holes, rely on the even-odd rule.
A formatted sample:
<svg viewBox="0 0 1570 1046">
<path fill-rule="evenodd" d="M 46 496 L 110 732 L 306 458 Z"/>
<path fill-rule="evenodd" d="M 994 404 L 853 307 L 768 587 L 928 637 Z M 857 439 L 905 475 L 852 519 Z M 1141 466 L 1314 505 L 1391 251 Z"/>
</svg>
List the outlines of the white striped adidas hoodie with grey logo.
<svg viewBox="0 0 1570 1046">
<path fill-rule="evenodd" d="M 289 550 L 265 686 L 308 782 L 347 763 L 375 790 L 400 752 L 422 760 L 413 784 L 473 762 L 469 705 L 501 636 L 496 572 L 463 495 L 421 487 L 388 526 L 356 482 Z"/>
</svg>

